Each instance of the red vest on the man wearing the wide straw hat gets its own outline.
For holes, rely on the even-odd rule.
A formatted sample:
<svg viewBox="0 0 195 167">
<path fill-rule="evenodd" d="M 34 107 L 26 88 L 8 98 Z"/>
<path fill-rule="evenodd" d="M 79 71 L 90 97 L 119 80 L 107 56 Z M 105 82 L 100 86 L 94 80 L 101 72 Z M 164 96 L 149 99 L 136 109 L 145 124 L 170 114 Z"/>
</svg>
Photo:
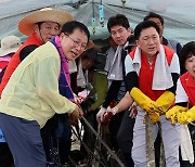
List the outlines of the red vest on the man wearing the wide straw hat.
<svg viewBox="0 0 195 167">
<path fill-rule="evenodd" d="M 20 60 L 20 52 L 23 48 L 25 48 L 26 46 L 30 46 L 30 44 L 36 44 L 36 46 L 41 46 L 42 42 L 40 41 L 40 39 L 37 37 L 37 35 L 34 33 L 30 37 L 28 37 L 28 39 L 24 42 L 23 46 L 21 46 L 21 48 L 15 52 L 15 54 L 12 56 L 6 70 L 4 73 L 4 76 L 2 78 L 1 85 L 0 85 L 0 95 L 4 89 L 4 87 L 6 86 L 11 75 L 13 74 L 13 72 L 15 70 L 15 68 L 20 65 L 21 60 Z"/>
</svg>

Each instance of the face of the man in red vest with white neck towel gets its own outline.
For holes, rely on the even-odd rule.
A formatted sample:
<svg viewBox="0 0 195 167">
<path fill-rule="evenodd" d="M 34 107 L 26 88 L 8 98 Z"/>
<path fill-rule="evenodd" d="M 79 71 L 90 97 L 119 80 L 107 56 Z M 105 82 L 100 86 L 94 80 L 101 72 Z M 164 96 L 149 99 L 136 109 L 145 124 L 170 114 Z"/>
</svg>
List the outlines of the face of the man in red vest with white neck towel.
<svg viewBox="0 0 195 167">
<path fill-rule="evenodd" d="M 159 51 L 159 35 L 154 27 L 142 29 L 136 44 L 147 57 L 153 57 Z"/>
</svg>

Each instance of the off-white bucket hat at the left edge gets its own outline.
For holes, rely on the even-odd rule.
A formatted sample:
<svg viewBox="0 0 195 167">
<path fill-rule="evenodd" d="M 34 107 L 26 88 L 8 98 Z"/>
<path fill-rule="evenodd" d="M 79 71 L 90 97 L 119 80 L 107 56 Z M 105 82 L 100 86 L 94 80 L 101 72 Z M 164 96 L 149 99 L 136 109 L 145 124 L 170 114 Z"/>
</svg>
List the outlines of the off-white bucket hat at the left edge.
<svg viewBox="0 0 195 167">
<path fill-rule="evenodd" d="M 21 38 L 16 36 L 6 36 L 1 40 L 0 56 L 15 53 L 22 46 Z"/>
</svg>

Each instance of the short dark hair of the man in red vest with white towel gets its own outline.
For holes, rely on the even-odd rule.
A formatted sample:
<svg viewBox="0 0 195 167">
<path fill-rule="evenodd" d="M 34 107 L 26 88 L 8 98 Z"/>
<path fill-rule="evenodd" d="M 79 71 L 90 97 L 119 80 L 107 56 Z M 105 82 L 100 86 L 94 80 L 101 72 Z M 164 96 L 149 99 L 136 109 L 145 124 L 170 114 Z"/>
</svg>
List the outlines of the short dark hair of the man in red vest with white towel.
<svg viewBox="0 0 195 167">
<path fill-rule="evenodd" d="M 134 38 L 138 40 L 140 38 L 141 31 L 143 29 L 150 28 L 150 27 L 154 27 L 156 29 L 156 31 L 159 35 L 159 27 L 155 22 L 152 21 L 144 21 L 141 22 L 135 28 L 134 28 Z"/>
</svg>

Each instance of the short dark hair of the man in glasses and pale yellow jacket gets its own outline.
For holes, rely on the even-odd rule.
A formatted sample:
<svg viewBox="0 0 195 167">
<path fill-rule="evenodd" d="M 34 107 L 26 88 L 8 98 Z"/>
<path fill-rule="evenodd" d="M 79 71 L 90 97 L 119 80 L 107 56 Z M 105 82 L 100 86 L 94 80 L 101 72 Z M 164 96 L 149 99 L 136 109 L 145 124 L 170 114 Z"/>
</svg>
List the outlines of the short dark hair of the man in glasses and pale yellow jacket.
<svg viewBox="0 0 195 167">
<path fill-rule="evenodd" d="M 72 21 L 72 22 L 65 23 L 61 29 L 61 34 L 64 33 L 64 34 L 70 35 L 77 28 L 80 29 L 81 31 L 84 31 L 84 34 L 88 37 L 88 41 L 89 41 L 90 33 L 89 33 L 88 27 L 84 24 L 77 22 L 77 21 Z"/>
</svg>

